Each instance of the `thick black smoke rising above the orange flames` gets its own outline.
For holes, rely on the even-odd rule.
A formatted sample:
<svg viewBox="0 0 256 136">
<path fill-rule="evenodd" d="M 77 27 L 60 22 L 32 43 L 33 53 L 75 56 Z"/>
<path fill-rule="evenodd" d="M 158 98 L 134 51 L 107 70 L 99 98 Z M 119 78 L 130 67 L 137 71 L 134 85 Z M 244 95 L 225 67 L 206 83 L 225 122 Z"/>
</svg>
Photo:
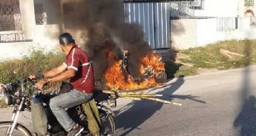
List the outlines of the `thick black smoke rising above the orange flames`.
<svg viewBox="0 0 256 136">
<path fill-rule="evenodd" d="M 149 52 L 144 32 L 138 24 L 125 22 L 124 5 L 121 0 L 76 0 L 63 4 L 64 28 L 83 29 L 84 49 L 93 61 L 96 80 L 117 59 L 122 58 L 123 49 L 130 53 L 128 68 L 138 76 L 140 59 Z M 107 57 L 111 52 L 114 56 Z"/>
</svg>

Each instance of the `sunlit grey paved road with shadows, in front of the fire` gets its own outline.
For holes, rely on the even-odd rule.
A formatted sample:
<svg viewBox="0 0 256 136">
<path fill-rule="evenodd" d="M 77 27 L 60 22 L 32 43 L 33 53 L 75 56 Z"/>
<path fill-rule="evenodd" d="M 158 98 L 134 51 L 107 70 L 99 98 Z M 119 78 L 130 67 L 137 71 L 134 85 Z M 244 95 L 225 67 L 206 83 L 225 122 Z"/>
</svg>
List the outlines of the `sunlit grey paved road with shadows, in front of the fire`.
<svg viewBox="0 0 256 136">
<path fill-rule="evenodd" d="M 173 79 L 149 92 L 183 106 L 121 99 L 114 109 L 116 134 L 256 136 L 255 82 L 256 66 Z M 0 110 L 0 121 L 7 120 L 8 113 Z"/>
</svg>

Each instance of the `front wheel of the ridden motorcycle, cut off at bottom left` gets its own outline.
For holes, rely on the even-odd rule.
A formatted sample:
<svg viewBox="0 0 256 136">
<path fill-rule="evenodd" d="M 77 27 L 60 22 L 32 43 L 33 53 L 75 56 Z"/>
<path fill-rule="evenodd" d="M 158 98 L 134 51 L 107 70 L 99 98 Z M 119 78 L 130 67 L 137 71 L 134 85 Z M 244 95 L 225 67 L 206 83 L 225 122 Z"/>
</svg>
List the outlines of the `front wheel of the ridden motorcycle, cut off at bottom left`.
<svg viewBox="0 0 256 136">
<path fill-rule="evenodd" d="M 17 124 L 12 134 L 7 134 L 8 129 L 12 128 L 12 122 L 0 122 L 0 134 L 2 136 L 32 136 L 31 132 L 22 124 Z"/>
</svg>

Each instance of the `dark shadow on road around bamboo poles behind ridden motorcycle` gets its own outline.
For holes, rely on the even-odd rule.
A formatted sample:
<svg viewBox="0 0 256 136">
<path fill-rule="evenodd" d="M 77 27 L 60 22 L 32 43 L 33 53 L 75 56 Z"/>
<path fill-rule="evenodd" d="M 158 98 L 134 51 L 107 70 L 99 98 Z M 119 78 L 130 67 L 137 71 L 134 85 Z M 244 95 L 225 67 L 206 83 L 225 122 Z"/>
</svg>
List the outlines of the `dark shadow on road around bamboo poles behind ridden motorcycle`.
<svg viewBox="0 0 256 136">
<path fill-rule="evenodd" d="M 178 77 L 176 82 L 173 82 L 171 85 L 165 86 L 163 91 L 159 91 L 156 94 L 163 94 L 164 100 L 170 100 L 170 95 L 177 91 L 179 87 L 185 82 L 183 76 Z M 196 96 L 197 97 L 197 96 Z M 193 99 L 196 100 L 196 97 L 188 96 L 172 96 L 171 98 L 180 98 L 180 99 Z M 198 100 L 196 100 L 198 101 Z M 205 103 L 204 101 L 198 101 Z M 143 124 L 145 120 L 148 120 L 155 112 L 160 110 L 164 106 L 163 103 L 155 101 L 134 101 L 130 104 L 118 110 L 116 116 L 116 129 L 124 129 L 125 132 L 120 135 L 130 134 L 135 129 L 140 129 L 140 124 Z"/>
</svg>

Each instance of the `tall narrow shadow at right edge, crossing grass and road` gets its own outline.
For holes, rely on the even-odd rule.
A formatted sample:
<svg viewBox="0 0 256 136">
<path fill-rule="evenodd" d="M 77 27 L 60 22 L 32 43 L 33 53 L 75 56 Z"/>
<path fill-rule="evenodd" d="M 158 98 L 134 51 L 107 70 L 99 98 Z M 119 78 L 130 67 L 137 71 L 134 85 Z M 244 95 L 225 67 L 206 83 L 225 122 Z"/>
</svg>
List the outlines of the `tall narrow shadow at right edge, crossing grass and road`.
<svg viewBox="0 0 256 136">
<path fill-rule="evenodd" d="M 234 120 L 233 126 L 239 131 L 240 136 L 256 136 L 256 98 L 250 90 L 250 69 L 252 45 L 248 40 L 244 48 L 244 80 L 239 99 L 241 108 Z"/>
</svg>

